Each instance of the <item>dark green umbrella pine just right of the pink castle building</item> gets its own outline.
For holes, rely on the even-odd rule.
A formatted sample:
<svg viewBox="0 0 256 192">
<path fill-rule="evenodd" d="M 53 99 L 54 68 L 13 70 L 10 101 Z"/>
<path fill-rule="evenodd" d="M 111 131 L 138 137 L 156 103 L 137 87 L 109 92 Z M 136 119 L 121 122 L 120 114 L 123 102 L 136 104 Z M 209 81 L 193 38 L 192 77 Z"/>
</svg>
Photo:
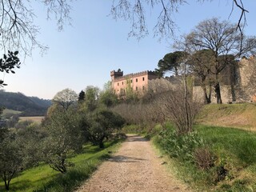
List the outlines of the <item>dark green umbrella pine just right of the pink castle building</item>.
<svg viewBox="0 0 256 192">
<path fill-rule="evenodd" d="M 167 71 L 173 72 L 178 76 L 178 68 L 182 63 L 182 58 L 186 53 L 184 51 L 175 51 L 174 53 L 166 54 L 158 62 L 158 74 L 165 74 Z"/>
</svg>

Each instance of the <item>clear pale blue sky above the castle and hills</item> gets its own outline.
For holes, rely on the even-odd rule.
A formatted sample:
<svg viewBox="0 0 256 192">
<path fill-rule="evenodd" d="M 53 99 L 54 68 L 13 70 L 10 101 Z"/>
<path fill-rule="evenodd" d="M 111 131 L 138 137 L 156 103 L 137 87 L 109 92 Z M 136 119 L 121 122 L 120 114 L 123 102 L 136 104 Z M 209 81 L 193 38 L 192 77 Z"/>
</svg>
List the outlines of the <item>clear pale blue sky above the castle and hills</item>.
<svg viewBox="0 0 256 192">
<path fill-rule="evenodd" d="M 238 22 L 240 12 L 234 10 L 230 16 L 231 0 L 188 1 L 174 13 L 178 26 L 175 37 L 188 34 L 204 19 L 217 17 Z M 246 15 L 246 35 L 256 35 L 256 1 L 245 0 L 249 10 Z M 52 99 L 58 91 L 70 88 L 79 93 L 86 86 L 100 89 L 110 81 L 111 70 L 123 70 L 124 74 L 154 70 L 158 61 L 167 53 L 173 52 L 174 40 L 154 38 L 152 29 L 156 14 L 149 10 L 146 21 L 150 34 L 138 41 L 129 38 L 129 21 L 114 20 L 110 14 L 112 1 L 78 0 L 72 3 L 70 16 L 72 26 L 64 26 L 59 32 L 54 19 L 46 19 L 46 8 L 35 6 L 40 26 L 38 40 L 49 46 L 46 54 L 35 49 L 32 57 L 22 61 L 16 74 L 0 74 L 8 86 L 4 90 L 21 92 L 27 96 Z M 155 10 L 157 12 L 157 10 Z"/>
</svg>

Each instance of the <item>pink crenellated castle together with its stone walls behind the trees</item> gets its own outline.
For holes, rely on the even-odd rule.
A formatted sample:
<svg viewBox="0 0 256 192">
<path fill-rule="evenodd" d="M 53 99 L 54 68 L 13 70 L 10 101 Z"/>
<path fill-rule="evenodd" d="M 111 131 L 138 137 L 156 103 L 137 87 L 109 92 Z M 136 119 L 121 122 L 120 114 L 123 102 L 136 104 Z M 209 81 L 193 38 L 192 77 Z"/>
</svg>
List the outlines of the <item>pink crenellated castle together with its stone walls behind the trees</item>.
<svg viewBox="0 0 256 192">
<path fill-rule="evenodd" d="M 256 102 L 256 58 L 242 58 L 235 66 L 227 66 L 220 74 L 221 95 L 223 103 L 230 102 Z M 164 85 L 169 81 L 173 86 L 178 86 L 177 78 L 158 78 L 153 71 L 143 71 L 136 74 L 123 75 L 123 71 L 111 71 L 111 88 L 118 97 L 124 97 L 127 91 L 135 91 L 144 94 L 149 88 L 150 82 Z M 161 83 L 159 83 L 161 81 Z M 155 83 L 157 82 L 157 83 Z M 154 88 L 157 90 L 157 88 Z M 214 91 L 211 91 L 212 102 Z M 203 98 L 202 86 L 197 78 L 194 78 L 193 97 Z M 203 100 L 203 99 L 202 99 Z"/>
</svg>

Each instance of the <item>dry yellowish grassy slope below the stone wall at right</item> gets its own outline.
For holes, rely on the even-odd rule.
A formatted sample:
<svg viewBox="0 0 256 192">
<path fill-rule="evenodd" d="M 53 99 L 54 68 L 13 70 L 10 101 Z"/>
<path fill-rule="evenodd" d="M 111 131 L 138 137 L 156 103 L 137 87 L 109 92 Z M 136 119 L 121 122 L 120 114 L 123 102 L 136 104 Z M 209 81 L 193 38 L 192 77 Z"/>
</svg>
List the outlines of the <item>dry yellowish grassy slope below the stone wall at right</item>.
<svg viewBox="0 0 256 192">
<path fill-rule="evenodd" d="M 256 131 L 256 105 L 254 103 L 206 105 L 197 120 L 204 125 L 230 126 Z"/>
</svg>

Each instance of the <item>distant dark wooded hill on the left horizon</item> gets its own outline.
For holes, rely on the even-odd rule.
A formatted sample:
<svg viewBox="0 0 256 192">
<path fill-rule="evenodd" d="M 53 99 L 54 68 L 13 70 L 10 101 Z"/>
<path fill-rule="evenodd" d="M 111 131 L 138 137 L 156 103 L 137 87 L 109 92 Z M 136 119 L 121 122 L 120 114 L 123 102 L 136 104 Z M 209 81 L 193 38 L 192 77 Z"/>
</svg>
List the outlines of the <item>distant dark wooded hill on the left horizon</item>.
<svg viewBox="0 0 256 192">
<path fill-rule="evenodd" d="M 46 114 L 51 101 L 37 97 L 27 97 L 22 93 L 0 90 L 0 106 L 21 111 L 21 116 L 42 116 Z"/>
</svg>

